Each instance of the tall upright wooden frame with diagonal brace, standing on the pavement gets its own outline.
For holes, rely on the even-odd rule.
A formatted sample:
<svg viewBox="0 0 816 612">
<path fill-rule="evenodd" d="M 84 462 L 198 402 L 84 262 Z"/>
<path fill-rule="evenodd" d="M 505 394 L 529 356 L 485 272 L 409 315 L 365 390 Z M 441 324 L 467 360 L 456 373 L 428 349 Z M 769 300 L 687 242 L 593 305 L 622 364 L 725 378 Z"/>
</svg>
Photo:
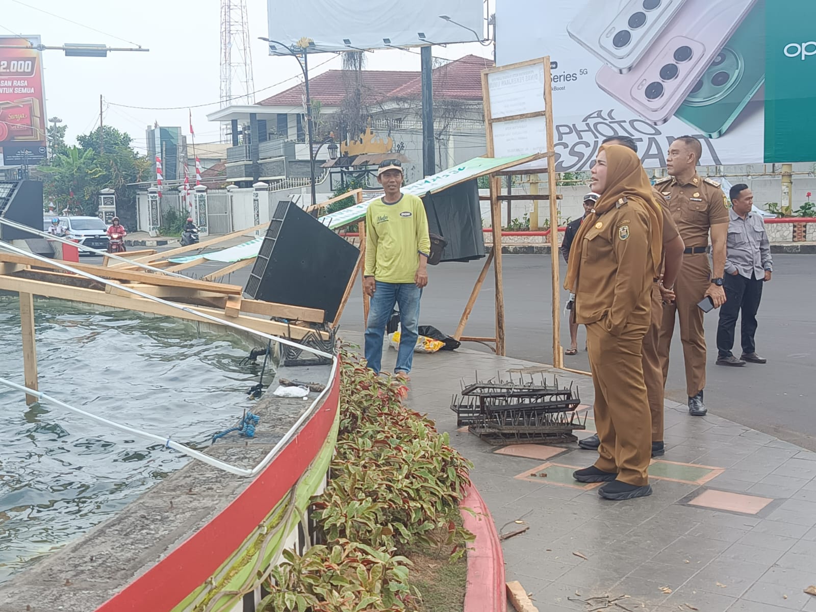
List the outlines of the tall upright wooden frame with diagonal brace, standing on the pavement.
<svg viewBox="0 0 816 612">
<path fill-rule="evenodd" d="M 532 112 L 523 113 L 494 113 L 493 104 L 490 100 L 490 75 L 508 72 L 512 70 L 525 69 L 528 67 L 543 68 L 543 88 L 541 91 L 541 100 L 535 100 L 534 106 L 537 106 Z M 564 364 L 563 351 L 561 348 L 561 318 L 559 310 L 559 290 L 561 278 L 558 272 L 558 257 L 557 257 L 557 228 L 558 228 L 558 195 L 552 197 L 554 192 L 557 192 L 556 168 L 555 168 L 555 136 L 554 136 L 554 122 L 552 118 L 552 72 L 549 56 L 539 58 L 537 60 L 529 60 L 519 62 L 517 64 L 508 64 L 505 66 L 496 66 L 494 68 L 483 70 L 481 73 L 481 91 L 482 99 L 484 100 L 485 108 L 485 125 L 487 131 L 487 155 L 488 157 L 495 157 L 496 155 L 496 140 L 494 138 L 494 126 L 505 122 L 519 122 L 521 128 L 526 127 L 526 123 L 531 123 L 535 120 L 544 119 L 546 124 L 546 143 L 539 144 L 539 151 L 541 153 L 539 158 L 547 160 L 548 173 L 548 194 L 530 194 L 524 199 L 529 200 L 548 200 L 550 205 L 550 228 L 551 233 L 551 255 L 552 255 L 552 365 L 555 367 L 562 367 Z M 527 153 L 530 153 L 529 151 Z M 533 152 L 535 153 L 535 152 Z M 506 344 L 504 335 L 504 285 L 502 272 L 502 223 L 501 223 L 501 201 L 503 199 L 510 200 L 513 198 L 502 197 L 501 194 L 501 176 L 508 174 L 529 173 L 519 170 L 513 172 L 512 168 L 504 169 L 503 171 L 495 171 L 490 175 L 490 223 L 493 228 L 493 251 L 491 257 L 485 262 L 476 285 L 473 287 L 468 304 L 465 306 L 462 317 L 459 320 L 459 326 L 456 329 L 454 337 L 459 340 L 475 341 L 475 342 L 492 342 L 494 343 L 494 352 L 497 355 L 506 354 Z M 519 198 L 521 199 L 521 198 Z M 495 338 L 474 338 L 464 336 L 464 327 L 468 322 L 468 317 L 473 309 L 473 304 L 481 290 L 482 283 L 487 277 L 487 271 L 490 264 L 493 264 L 496 290 L 496 335 Z"/>
</svg>

